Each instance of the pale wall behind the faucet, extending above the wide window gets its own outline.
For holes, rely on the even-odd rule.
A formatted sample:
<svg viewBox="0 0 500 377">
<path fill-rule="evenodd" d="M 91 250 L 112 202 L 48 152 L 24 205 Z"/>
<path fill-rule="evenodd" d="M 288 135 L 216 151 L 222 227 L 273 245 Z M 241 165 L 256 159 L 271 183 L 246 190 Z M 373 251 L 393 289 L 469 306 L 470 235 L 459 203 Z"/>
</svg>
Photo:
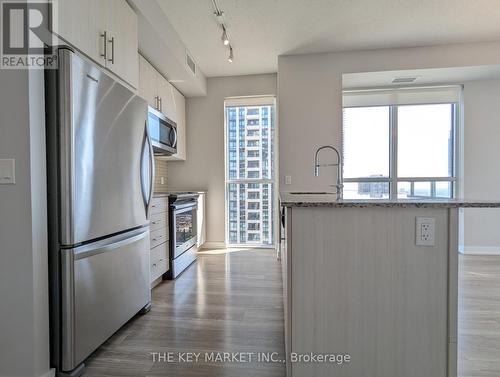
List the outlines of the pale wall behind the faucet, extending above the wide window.
<svg viewBox="0 0 500 377">
<path fill-rule="evenodd" d="M 324 191 L 332 182 L 330 174 L 314 177 L 313 156 L 320 145 L 340 147 L 343 73 L 494 64 L 500 42 L 280 56 L 280 191 Z"/>
</svg>

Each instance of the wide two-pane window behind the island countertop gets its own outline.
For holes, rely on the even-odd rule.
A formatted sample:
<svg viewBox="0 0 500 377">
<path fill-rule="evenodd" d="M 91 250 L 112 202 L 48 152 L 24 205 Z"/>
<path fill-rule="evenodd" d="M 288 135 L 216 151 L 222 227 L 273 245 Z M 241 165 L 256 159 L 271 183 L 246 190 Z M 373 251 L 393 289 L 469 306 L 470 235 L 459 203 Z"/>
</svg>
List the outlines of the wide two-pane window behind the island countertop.
<svg viewBox="0 0 500 377">
<path fill-rule="evenodd" d="M 455 197 L 458 100 L 376 106 L 365 100 L 352 107 L 346 102 L 344 198 Z"/>
</svg>

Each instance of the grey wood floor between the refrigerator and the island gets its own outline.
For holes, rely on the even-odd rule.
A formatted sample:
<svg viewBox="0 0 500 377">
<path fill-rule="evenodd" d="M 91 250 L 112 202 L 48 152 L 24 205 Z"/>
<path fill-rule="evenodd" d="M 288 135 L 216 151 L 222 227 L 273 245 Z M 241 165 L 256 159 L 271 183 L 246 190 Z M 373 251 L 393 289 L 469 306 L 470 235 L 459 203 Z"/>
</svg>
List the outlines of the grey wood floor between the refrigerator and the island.
<svg viewBox="0 0 500 377">
<path fill-rule="evenodd" d="M 153 290 L 148 314 L 127 323 L 87 360 L 85 377 L 285 376 L 284 364 L 255 361 L 260 352 L 284 357 L 283 289 L 275 251 L 200 254 L 177 280 Z M 198 362 L 178 362 L 179 352 L 201 355 Z M 204 352 L 252 353 L 253 360 L 205 361 Z M 176 362 L 153 361 L 153 353 L 171 353 Z"/>
</svg>

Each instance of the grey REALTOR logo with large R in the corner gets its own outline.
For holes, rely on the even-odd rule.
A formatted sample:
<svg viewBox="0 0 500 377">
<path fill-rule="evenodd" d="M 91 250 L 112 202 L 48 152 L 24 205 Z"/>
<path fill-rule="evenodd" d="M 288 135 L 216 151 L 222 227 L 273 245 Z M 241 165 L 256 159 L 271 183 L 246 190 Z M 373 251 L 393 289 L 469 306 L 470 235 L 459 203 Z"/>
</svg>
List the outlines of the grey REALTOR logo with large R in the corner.
<svg viewBox="0 0 500 377">
<path fill-rule="evenodd" d="M 48 1 L 1 1 L 1 68 L 57 68 L 52 6 Z"/>
</svg>

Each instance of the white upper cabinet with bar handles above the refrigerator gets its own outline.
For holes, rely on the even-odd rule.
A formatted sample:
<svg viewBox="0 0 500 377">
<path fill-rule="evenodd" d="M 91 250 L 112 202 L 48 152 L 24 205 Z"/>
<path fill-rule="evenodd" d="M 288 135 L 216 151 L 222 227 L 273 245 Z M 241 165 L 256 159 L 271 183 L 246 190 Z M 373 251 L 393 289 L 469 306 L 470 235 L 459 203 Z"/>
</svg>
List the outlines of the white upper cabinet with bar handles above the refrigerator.
<svg viewBox="0 0 500 377">
<path fill-rule="evenodd" d="M 137 16 L 123 0 L 52 0 L 54 31 L 137 88 Z"/>
</svg>

